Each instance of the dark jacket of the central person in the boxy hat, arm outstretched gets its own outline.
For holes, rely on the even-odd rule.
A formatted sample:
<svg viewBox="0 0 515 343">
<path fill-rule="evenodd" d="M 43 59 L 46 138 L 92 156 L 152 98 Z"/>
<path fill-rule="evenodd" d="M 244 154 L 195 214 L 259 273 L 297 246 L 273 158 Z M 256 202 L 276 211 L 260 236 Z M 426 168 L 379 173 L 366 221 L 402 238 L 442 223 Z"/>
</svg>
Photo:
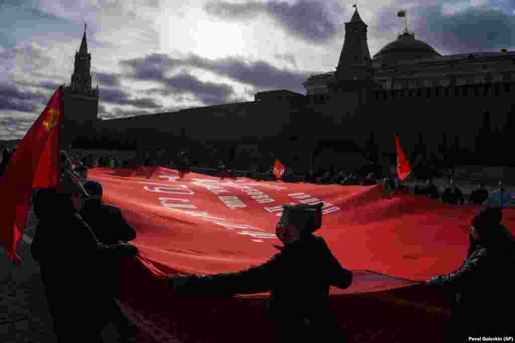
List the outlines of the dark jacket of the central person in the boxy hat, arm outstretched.
<svg viewBox="0 0 515 343">
<path fill-rule="evenodd" d="M 288 335 L 307 327 L 318 334 L 330 332 L 335 323 L 330 324 L 329 286 L 349 287 L 352 273 L 340 265 L 323 238 L 312 234 L 278 249 L 281 252 L 267 262 L 238 273 L 187 278 L 179 294 L 230 296 L 270 291 L 268 311 L 277 324 L 277 340 L 292 338 Z"/>
</svg>

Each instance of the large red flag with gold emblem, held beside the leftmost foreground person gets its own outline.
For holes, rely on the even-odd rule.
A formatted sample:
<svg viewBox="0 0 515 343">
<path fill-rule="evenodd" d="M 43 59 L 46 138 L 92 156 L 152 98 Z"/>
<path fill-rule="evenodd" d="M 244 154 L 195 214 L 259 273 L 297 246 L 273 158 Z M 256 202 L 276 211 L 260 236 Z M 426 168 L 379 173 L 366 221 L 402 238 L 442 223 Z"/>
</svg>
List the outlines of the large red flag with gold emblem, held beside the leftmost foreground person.
<svg viewBox="0 0 515 343">
<path fill-rule="evenodd" d="M 62 86 L 16 147 L 0 180 L 0 246 L 16 264 L 21 264 L 16 246 L 23 237 L 32 190 L 59 183 L 61 94 Z"/>
</svg>

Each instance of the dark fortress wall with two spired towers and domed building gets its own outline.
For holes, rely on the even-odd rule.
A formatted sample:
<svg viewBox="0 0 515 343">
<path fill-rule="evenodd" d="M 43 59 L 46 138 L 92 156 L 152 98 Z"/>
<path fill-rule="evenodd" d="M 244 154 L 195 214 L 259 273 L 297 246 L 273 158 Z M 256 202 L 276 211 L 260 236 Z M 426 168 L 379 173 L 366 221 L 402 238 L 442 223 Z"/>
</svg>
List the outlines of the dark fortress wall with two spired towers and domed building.
<svg viewBox="0 0 515 343">
<path fill-rule="evenodd" d="M 279 158 L 299 172 L 351 171 L 367 160 L 389 168 L 398 134 L 412 160 L 446 155 L 457 164 L 510 163 L 495 151 L 515 134 L 515 52 L 442 56 L 405 30 L 372 56 L 357 9 L 345 23 L 335 70 L 308 78 L 305 95 L 270 90 L 254 101 L 100 120 L 102 90 L 92 87 L 90 62 L 84 32 L 63 98 L 65 147 L 170 156 L 188 148 L 204 166 L 225 160 L 248 169 Z"/>
</svg>

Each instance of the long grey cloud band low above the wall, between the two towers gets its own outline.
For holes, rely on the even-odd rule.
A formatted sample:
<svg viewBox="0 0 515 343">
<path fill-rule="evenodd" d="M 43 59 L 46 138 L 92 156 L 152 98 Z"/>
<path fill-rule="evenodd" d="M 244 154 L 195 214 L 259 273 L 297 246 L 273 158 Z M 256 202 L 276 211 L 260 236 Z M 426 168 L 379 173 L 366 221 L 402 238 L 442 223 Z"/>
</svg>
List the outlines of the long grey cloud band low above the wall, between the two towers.
<svg viewBox="0 0 515 343">
<path fill-rule="evenodd" d="M 157 81 L 166 84 L 167 78 L 164 75 L 168 71 L 190 67 L 208 70 L 219 76 L 251 85 L 258 90 L 267 91 L 284 88 L 303 92 L 302 82 L 312 74 L 307 71 L 279 69 L 264 61 L 247 62 L 236 57 L 210 60 L 198 55 L 190 55 L 185 59 L 175 59 L 167 55 L 153 54 L 144 58 L 124 60 L 121 64 L 129 68 L 128 77 L 139 80 Z M 188 79 L 183 79 L 183 81 L 185 86 L 192 85 Z M 175 83 L 175 86 L 179 85 Z M 192 89 L 192 92 L 194 91 L 195 89 Z"/>
</svg>

